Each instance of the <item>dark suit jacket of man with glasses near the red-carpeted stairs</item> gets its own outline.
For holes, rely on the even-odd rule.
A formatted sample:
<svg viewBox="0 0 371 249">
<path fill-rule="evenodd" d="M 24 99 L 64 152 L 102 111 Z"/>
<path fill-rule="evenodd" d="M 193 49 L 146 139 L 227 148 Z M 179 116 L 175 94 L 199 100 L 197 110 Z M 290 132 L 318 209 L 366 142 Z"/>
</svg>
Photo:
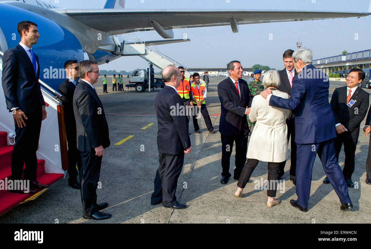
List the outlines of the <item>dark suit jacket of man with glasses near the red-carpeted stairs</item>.
<svg viewBox="0 0 371 249">
<path fill-rule="evenodd" d="M 76 141 L 79 151 L 94 152 L 94 148 L 107 148 L 108 124 L 101 100 L 95 90 L 80 81 L 73 94 L 73 111 L 76 119 Z"/>
</svg>

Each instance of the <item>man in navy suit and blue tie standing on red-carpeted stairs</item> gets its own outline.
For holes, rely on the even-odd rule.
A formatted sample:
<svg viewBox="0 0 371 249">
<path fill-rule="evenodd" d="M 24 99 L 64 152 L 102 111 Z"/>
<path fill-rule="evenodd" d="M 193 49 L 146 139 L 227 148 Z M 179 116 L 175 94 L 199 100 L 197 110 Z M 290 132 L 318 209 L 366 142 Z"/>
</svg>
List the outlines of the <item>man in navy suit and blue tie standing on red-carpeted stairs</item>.
<svg viewBox="0 0 371 249">
<path fill-rule="evenodd" d="M 15 145 L 12 153 L 12 180 L 30 180 L 30 191 L 10 190 L 16 193 L 35 193 L 49 186 L 36 181 L 37 157 L 41 121 L 46 118 L 45 102 L 41 93 L 39 58 L 32 45 L 40 37 L 37 24 L 18 23 L 19 45 L 5 51 L 3 56 L 3 89 L 6 105 L 12 112 L 15 125 Z"/>
</svg>

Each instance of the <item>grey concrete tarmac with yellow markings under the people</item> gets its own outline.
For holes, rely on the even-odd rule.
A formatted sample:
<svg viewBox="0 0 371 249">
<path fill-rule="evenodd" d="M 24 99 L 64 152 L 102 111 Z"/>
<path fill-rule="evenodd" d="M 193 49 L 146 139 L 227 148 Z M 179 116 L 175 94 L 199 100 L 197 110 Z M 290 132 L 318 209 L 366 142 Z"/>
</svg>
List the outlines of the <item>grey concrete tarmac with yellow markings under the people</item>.
<svg viewBox="0 0 371 249">
<path fill-rule="evenodd" d="M 220 102 L 217 84 L 224 77 L 210 77 L 206 99 L 207 109 L 215 131 L 219 131 Z M 177 199 L 187 209 L 173 210 L 161 204 L 150 204 L 154 177 L 158 167 L 157 119 L 154 100 L 161 88 L 154 92 L 112 92 L 108 77 L 108 94 L 103 93 L 102 78 L 94 85 L 104 105 L 109 126 L 111 146 L 104 150 L 98 186 L 98 203 L 108 202 L 103 212 L 111 219 L 82 219 L 80 191 L 68 186 L 67 178 L 52 184 L 32 199 L 19 204 L 0 216 L 0 223 L 370 223 L 371 186 L 365 183 L 365 162 L 369 137 L 361 124 L 352 180 L 354 189 L 349 196 L 354 205 L 351 212 L 340 210 L 340 202 L 331 184 L 322 184 L 325 173 L 317 157 L 313 167 L 308 212 L 292 207 L 290 199 L 297 199 L 295 185 L 289 180 L 290 156 L 286 163 L 280 190 L 276 198 L 282 203 L 267 207 L 264 189 L 256 189 L 256 182 L 267 179 L 267 163 L 260 162 L 247 183 L 243 198 L 234 196 L 237 180 L 232 177 L 223 185 L 221 179 L 220 133 L 210 134 L 203 118 L 198 119 L 201 134 L 195 134 L 192 118 L 190 138 L 192 152 L 185 154 L 183 171 L 178 179 Z M 124 86 L 128 79 L 124 78 Z M 345 82 L 331 81 L 330 96 Z M 362 88 L 367 92 L 369 89 Z M 371 102 L 371 101 L 370 101 Z M 152 124 L 152 125 L 150 125 Z M 164 141 L 166 142 L 166 141 Z M 117 145 L 116 145 L 117 144 Z M 290 146 L 289 146 L 290 149 Z M 230 173 L 233 175 L 234 148 Z M 290 153 L 289 153 L 290 155 Z M 300 155 L 299 155 L 300 156 Z M 344 166 L 344 151 L 339 165 Z M 259 184 L 260 185 L 260 184 Z M 100 188 L 99 188 L 100 187 Z"/>
</svg>

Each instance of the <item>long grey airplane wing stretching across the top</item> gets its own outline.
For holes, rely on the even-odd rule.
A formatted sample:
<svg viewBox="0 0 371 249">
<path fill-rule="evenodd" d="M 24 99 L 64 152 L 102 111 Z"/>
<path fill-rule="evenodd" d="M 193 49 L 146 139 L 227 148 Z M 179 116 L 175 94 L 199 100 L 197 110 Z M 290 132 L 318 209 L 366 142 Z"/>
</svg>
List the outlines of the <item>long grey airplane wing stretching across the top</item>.
<svg viewBox="0 0 371 249">
<path fill-rule="evenodd" d="M 304 20 L 363 17 L 367 12 L 302 10 L 135 10 L 135 9 L 54 9 L 94 29 L 113 35 L 156 30 L 164 38 L 173 38 L 172 29 L 238 24 L 291 22 Z"/>
</svg>

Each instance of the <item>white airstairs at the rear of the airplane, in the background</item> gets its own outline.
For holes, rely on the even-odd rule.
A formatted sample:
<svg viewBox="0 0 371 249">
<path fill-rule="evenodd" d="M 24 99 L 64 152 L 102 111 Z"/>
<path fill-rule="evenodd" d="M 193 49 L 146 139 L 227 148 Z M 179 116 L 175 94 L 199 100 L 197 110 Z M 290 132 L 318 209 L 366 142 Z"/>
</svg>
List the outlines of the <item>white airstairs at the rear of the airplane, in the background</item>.
<svg viewBox="0 0 371 249">
<path fill-rule="evenodd" d="M 158 52 L 156 45 L 154 45 L 153 43 L 150 44 L 150 46 L 145 46 L 144 39 L 125 39 L 124 42 L 121 43 L 121 46 L 116 47 L 116 50 L 117 51 L 114 52 L 115 55 L 138 55 L 139 57 L 147 60 L 149 63 L 152 63 L 162 70 L 168 65 L 175 65 L 177 67 L 183 66 L 177 61 L 164 55 L 163 53 Z M 183 68 L 185 71 L 184 76 L 186 78 L 189 78 L 194 73 L 185 66 L 183 66 Z M 203 75 L 200 75 L 200 82 L 204 83 L 202 76 Z"/>
</svg>

